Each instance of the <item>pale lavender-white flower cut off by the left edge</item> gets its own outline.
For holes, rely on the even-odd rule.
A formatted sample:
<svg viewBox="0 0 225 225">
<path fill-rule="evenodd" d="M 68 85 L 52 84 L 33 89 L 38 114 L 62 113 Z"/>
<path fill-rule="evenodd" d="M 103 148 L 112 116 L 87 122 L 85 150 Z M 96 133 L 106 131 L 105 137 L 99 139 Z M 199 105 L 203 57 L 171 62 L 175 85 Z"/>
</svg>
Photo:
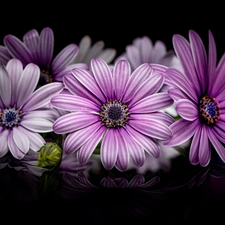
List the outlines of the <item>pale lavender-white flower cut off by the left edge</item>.
<svg viewBox="0 0 225 225">
<path fill-rule="evenodd" d="M 64 86 L 54 82 L 34 91 L 39 78 L 33 63 L 24 68 L 18 59 L 0 64 L 0 157 L 10 151 L 22 159 L 30 149 L 38 151 L 45 143 L 39 133 L 53 130 L 56 115 L 48 105 Z"/>
</svg>

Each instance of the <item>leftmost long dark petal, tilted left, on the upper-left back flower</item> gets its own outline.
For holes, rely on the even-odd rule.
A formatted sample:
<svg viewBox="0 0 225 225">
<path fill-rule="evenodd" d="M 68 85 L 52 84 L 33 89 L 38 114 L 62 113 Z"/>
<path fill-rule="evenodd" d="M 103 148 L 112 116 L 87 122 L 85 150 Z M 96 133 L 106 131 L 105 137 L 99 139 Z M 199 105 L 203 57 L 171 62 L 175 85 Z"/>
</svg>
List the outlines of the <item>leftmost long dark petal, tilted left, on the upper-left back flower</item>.
<svg viewBox="0 0 225 225">
<path fill-rule="evenodd" d="M 27 46 L 17 37 L 8 34 L 4 37 L 4 45 L 8 48 L 10 54 L 23 63 L 23 65 L 27 65 L 28 63 L 33 62 L 33 57 L 31 55 L 30 50 Z"/>
</svg>

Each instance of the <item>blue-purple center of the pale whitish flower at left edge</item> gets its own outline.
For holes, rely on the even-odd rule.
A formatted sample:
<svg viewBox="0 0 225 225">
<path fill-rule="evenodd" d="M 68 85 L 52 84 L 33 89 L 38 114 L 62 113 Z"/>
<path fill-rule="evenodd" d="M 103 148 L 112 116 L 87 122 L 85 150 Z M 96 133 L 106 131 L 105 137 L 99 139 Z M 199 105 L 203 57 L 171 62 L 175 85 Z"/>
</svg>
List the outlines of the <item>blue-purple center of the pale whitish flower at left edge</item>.
<svg viewBox="0 0 225 225">
<path fill-rule="evenodd" d="M 21 115 L 21 110 L 15 110 L 14 108 L 3 109 L 3 111 L 0 112 L 0 124 L 10 129 L 18 125 L 21 120 Z"/>
</svg>

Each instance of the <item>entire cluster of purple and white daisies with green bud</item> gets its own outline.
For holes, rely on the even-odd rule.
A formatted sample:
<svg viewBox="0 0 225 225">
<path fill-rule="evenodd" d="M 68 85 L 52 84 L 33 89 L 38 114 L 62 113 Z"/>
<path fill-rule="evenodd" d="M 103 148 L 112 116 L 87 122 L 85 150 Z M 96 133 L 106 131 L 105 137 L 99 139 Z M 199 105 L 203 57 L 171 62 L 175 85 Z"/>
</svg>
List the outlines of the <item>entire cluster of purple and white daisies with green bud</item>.
<svg viewBox="0 0 225 225">
<path fill-rule="evenodd" d="M 117 55 L 84 36 L 54 53 L 54 33 L 32 29 L 0 46 L 0 157 L 37 154 L 54 166 L 65 155 L 87 164 L 98 154 L 105 169 L 168 166 L 185 153 L 206 167 L 225 162 L 225 57 L 217 63 L 189 31 L 162 41 L 137 37 Z M 207 51 L 208 50 L 208 51 Z"/>
</svg>

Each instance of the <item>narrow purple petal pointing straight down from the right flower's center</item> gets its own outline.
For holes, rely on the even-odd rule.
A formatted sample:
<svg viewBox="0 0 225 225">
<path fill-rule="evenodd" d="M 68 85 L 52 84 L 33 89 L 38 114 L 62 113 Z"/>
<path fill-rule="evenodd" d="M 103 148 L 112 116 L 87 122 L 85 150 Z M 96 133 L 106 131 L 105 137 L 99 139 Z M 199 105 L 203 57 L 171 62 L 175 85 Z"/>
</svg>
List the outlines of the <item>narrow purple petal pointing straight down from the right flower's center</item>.
<svg viewBox="0 0 225 225">
<path fill-rule="evenodd" d="M 198 158 L 200 165 L 203 167 L 207 166 L 211 159 L 211 146 L 208 138 L 207 128 L 207 126 L 202 126 L 199 140 Z"/>
</svg>

